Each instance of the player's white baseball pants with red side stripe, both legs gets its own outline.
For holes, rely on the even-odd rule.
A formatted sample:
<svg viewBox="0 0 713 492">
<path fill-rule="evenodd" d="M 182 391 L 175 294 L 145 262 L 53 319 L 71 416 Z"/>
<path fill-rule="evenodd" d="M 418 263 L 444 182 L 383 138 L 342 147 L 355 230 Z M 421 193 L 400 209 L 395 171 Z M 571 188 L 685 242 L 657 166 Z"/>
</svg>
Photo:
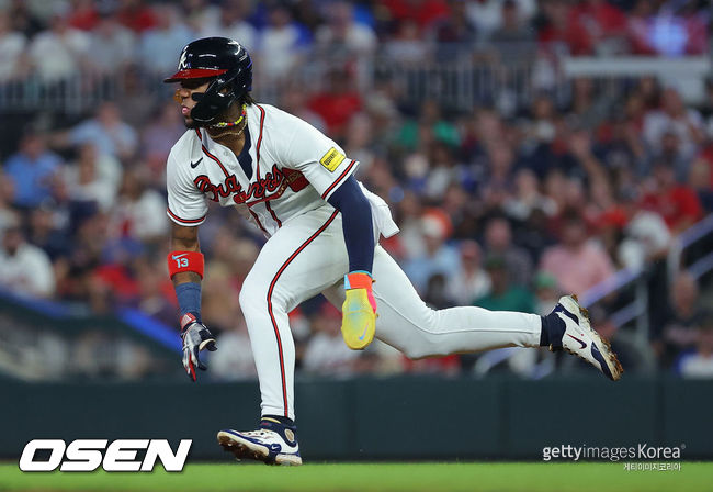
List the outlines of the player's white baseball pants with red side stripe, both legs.
<svg viewBox="0 0 713 492">
<path fill-rule="evenodd" d="M 254 356 L 262 415 L 294 418 L 295 346 L 287 313 L 318 293 L 341 309 L 349 258 L 341 215 L 322 206 L 296 216 L 265 243 L 240 291 Z M 376 337 L 407 357 L 443 356 L 499 347 L 537 347 L 535 314 L 463 306 L 432 310 L 396 261 L 374 253 Z"/>
</svg>

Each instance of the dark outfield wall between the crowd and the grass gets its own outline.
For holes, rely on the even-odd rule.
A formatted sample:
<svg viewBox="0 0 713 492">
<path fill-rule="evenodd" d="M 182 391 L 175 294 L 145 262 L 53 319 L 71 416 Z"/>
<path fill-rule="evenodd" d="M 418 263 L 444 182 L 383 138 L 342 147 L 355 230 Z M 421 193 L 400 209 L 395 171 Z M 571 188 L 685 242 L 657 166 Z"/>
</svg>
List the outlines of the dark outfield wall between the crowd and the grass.
<svg viewBox="0 0 713 492">
<path fill-rule="evenodd" d="M 26 384 L 0 381 L 0 458 L 33 438 L 193 439 L 190 459 L 229 459 L 224 427 L 257 424 L 257 383 Z M 545 446 L 681 446 L 713 458 L 713 381 L 637 379 L 302 380 L 303 457 L 540 459 Z"/>
</svg>

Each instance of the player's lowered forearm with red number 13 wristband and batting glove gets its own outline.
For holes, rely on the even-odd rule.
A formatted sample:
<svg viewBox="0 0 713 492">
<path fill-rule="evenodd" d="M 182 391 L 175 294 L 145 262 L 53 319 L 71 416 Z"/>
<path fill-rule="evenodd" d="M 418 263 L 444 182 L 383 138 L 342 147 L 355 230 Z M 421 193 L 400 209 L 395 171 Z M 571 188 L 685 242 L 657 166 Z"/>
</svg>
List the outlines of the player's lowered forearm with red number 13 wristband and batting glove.
<svg viewBox="0 0 713 492">
<path fill-rule="evenodd" d="M 201 322 L 201 281 L 204 261 L 199 243 L 199 227 L 173 223 L 170 250 L 167 260 L 181 312 L 183 367 L 189 378 L 195 381 L 195 368 L 207 369 L 200 359 L 201 350 L 217 349 L 215 338 Z"/>
</svg>

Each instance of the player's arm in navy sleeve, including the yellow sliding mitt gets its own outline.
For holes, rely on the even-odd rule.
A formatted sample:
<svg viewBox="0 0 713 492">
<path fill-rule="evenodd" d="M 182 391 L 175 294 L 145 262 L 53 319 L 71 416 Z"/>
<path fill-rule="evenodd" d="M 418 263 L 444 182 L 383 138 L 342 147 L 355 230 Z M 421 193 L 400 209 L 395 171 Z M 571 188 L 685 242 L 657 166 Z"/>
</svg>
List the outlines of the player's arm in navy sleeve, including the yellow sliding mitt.
<svg viewBox="0 0 713 492">
<path fill-rule="evenodd" d="M 349 273 L 344 276 L 346 299 L 341 332 L 352 349 L 365 348 L 374 338 L 376 300 L 372 292 L 374 230 L 369 200 L 353 176 L 327 200 L 341 212 Z"/>
</svg>

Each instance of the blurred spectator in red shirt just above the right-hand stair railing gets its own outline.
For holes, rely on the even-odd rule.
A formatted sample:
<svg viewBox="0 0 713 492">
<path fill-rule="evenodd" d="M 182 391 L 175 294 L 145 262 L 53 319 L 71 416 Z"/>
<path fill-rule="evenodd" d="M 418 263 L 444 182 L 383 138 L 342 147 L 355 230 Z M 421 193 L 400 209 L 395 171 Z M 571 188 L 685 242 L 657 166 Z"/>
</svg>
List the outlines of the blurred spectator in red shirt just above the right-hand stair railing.
<svg viewBox="0 0 713 492">
<path fill-rule="evenodd" d="M 689 186 L 676 182 L 670 163 L 659 160 L 654 166 L 654 178 L 642 200 L 642 208 L 657 212 L 674 234 L 684 231 L 701 220 L 701 202 Z"/>
</svg>

